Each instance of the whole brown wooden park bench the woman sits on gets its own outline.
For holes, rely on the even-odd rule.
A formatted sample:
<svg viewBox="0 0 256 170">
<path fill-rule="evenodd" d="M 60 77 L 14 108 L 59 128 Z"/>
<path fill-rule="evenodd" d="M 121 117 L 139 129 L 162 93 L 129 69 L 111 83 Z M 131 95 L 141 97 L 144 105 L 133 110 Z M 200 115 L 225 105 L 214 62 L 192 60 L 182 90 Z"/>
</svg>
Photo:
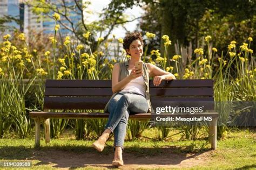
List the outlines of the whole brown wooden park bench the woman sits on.
<svg viewBox="0 0 256 170">
<path fill-rule="evenodd" d="M 35 146 L 40 146 L 40 124 L 44 122 L 45 141 L 50 142 L 49 118 L 107 118 L 109 114 L 102 112 L 50 112 L 49 109 L 104 109 L 112 95 L 111 80 L 46 80 L 44 111 L 30 112 L 35 120 Z M 158 87 L 153 86 L 150 80 L 150 95 L 152 107 L 165 107 L 166 105 L 184 105 L 192 101 L 193 104 L 204 105 L 207 112 L 195 114 L 173 114 L 170 117 L 212 117 L 210 122 L 211 147 L 217 148 L 217 119 L 214 112 L 213 80 L 173 80 L 163 81 Z M 209 112 L 210 111 L 210 112 Z M 150 119 L 149 113 L 130 115 L 132 119 Z"/>
</svg>

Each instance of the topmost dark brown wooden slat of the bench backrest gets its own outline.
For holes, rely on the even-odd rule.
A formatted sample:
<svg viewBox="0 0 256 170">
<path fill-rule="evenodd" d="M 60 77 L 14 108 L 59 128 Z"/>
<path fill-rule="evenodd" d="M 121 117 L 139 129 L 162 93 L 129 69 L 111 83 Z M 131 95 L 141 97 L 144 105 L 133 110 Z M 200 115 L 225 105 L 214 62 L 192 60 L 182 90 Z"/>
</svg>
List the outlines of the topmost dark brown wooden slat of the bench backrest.
<svg viewBox="0 0 256 170">
<path fill-rule="evenodd" d="M 111 87 L 111 80 L 46 80 L 45 87 Z M 150 87 L 153 80 L 150 80 Z M 172 80 L 161 82 L 158 87 L 213 87 L 213 80 Z"/>
</svg>

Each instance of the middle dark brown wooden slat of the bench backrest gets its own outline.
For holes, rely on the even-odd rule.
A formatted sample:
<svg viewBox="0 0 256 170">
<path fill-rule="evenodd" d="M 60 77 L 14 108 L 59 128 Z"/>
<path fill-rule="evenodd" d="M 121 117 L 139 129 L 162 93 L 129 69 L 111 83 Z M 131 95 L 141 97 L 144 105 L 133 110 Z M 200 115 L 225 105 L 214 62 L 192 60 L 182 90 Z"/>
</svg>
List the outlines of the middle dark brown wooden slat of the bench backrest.
<svg viewBox="0 0 256 170">
<path fill-rule="evenodd" d="M 111 96 L 111 88 L 46 88 L 45 96 Z M 151 96 L 213 96 L 213 88 L 151 88 Z"/>
</svg>

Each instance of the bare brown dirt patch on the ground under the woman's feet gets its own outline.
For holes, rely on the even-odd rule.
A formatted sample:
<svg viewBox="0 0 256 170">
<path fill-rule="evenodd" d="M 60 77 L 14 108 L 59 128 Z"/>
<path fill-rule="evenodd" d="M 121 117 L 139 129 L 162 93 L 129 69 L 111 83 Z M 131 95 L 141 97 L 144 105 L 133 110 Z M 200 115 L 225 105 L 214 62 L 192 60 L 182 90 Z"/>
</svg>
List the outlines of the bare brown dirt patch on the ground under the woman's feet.
<svg viewBox="0 0 256 170">
<path fill-rule="evenodd" d="M 179 168 L 193 167 L 206 164 L 210 160 L 210 153 L 190 153 L 177 154 L 166 148 L 164 153 L 155 155 L 138 155 L 132 153 L 123 153 L 124 166 L 126 168 Z M 76 153 L 72 151 L 46 150 L 36 151 L 30 159 L 39 160 L 35 166 L 50 165 L 56 168 L 77 168 L 77 167 L 95 167 L 95 168 L 114 168 L 112 166 L 113 151 L 110 153 Z"/>
</svg>

